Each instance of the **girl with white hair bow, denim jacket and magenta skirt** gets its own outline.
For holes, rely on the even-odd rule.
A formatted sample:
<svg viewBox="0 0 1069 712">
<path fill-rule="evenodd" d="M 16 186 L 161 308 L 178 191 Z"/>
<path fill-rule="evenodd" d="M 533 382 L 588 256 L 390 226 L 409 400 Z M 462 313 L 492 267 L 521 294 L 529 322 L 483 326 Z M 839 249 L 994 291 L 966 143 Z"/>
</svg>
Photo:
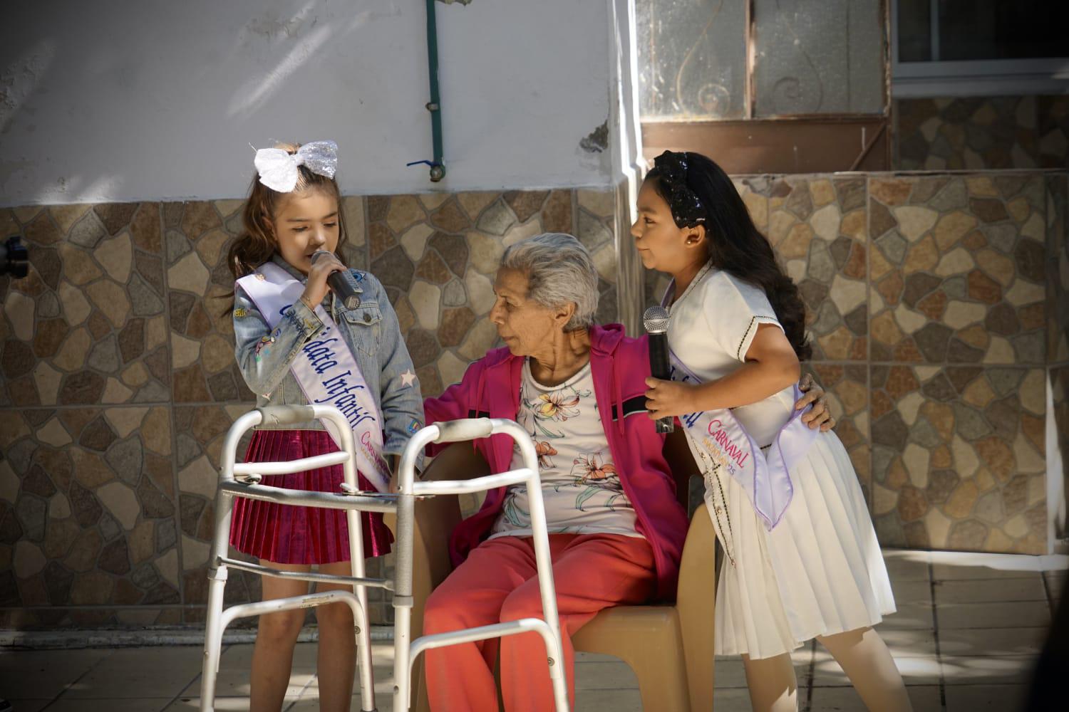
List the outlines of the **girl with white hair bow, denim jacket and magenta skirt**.
<svg viewBox="0 0 1069 712">
<path fill-rule="evenodd" d="M 423 422 L 412 359 L 386 290 L 369 272 L 341 262 L 345 226 L 334 180 L 332 141 L 257 152 L 258 175 L 245 205 L 244 231 L 230 249 L 237 364 L 257 406 L 336 406 L 353 427 L 362 489 L 387 491 L 392 462 Z M 315 255 L 316 252 L 327 254 Z M 314 255 L 314 258 L 313 258 Z M 327 287 L 345 275 L 359 296 L 348 307 Z M 355 302 L 356 300 L 352 300 Z M 330 426 L 334 427 L 334 426 Z M 337 452 L 317 421 L 269 429 L 261 425 L 246 461 L 285 461 Z M 341 465 L 265 476 L 276 487 L 338 492 Z M 389 551 L 382 515 L 361 512 L 365 554 Z M 348 575 L 345 512 L 238 499 L 231 543 L 272 568 Z M 341 588 L 320 584 L 320 590 Z M 299 596 L 305 582 L 263 577 L 263 598 Z M 347 710 L 353 694 L 353 616 L 342 603 L 320 606 L 320 709 Z M 260 617 L 252 653 L 252 710 L 279 710 L 285 696 L 303 610 Z"/>
</svg>

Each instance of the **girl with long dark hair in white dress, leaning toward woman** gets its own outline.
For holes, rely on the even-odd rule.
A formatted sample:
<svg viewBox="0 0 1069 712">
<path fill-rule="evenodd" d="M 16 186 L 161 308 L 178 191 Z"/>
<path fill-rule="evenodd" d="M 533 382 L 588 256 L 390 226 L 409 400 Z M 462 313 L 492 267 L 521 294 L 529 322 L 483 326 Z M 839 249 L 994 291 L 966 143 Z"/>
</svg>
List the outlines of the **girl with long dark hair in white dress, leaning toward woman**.
<svg viewBox="0 0 1069 712">
<path fill-rule="evenodd" d="M 887 570 L 842 443 L 801 423 L 811 349 L 797 287 L 724 171 L 665 152 L 638 194 L 635 246 L 672 276 L 672 380 L 648 379 L 650 417 L 679 416 L 724 548 L 716 653 L 741 654 L 754 709 L 794 710 L 791 650 L 816 637 L 870 710 L 909 710 L 872 629 L 894 613 Z"/>
</svg>

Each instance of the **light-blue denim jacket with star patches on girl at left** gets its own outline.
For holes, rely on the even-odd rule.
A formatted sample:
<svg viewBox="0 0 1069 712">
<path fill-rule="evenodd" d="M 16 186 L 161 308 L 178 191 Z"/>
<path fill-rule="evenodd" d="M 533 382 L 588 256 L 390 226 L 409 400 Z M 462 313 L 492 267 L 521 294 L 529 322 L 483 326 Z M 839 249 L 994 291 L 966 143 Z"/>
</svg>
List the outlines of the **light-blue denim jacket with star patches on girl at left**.
<svg viewBox="0 0 1069 712">
<path fill-rule="evenodd" d="M 272 260 L 303 284 L 307 281 L 277 253 Z M 383 416 L 383 454 L 400 457 L 408 439 L 423 425 L 423 400 L 419 381 L 414 378 L 416 369 L 383 285 L 370 272 L 351 269 L 344 274 L 360 292 L 360 305 L 345 308 L 328 292 L 323 306 L 353 351 L 369 392 L 376 396 Z M 257 394 L 258 408 L 307 405 L 290 364 L 323 328 L 319 316 L 297 300 L 272 331 L 248 294 L 241 285 L 234 286 L 234 354 L 245 382 Z M 402 374 L 408 379 L 402 378 Z M 288 425 L 286 429 L 322 430 L 324 427 L 319 421 L 312 421 Z M 420 464 L 417 462 L 417 466 Z"/>
</svg>

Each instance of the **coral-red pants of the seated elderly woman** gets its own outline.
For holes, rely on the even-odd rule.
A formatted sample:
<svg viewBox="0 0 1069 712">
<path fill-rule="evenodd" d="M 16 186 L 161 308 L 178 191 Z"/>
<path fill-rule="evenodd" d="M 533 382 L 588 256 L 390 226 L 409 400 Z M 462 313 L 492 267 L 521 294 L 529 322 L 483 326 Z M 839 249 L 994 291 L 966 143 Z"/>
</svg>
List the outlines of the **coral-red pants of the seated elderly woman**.
<svg viewBox="0 0 1069 712">
<path fill-rule="evenodd" d="M 618 534 L 549 536 L 564 647 L 564 674 L 575 703 L 571 635 L 602 608 L 646 601 L 656 585 L 653 550 Z M 423 633 L 445 633 L 518 618 L 541 618 L 530 537 L 479 544 L 427 601 Z M 553 710 L 545 646 L 537 633 L 464 643 L 427 652 L 427 690 L 434 712 L 497 710 L 494 663 L 500 647 L 501 695 L 508 712 Z"/>
</svg>

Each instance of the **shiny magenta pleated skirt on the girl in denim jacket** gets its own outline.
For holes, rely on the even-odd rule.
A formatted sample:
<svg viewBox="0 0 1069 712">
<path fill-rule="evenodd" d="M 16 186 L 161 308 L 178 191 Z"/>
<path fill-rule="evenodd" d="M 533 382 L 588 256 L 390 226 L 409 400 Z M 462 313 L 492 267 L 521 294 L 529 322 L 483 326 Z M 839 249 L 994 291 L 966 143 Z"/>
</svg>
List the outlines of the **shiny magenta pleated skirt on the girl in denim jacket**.
<svg viewBox="0 0 1069 712">
<path fill-rule="evenodd" d="M 338 452 L 326 430 L 257 430 L 246 462 L 283 462 Z M 363 475 L 360 488 L 373 489 Z M 340 492 L 342 466 L 290 475 L 265 475 L 264 485 L 312 492 Z M 360 512 L 365 556 L 390 551 L 393 536 L 379 512 Z M 239 552 L 276 564 L 334 564 L 348 560 L 345 511 L 237 499 L 230 543 Z"/>
</svg>

